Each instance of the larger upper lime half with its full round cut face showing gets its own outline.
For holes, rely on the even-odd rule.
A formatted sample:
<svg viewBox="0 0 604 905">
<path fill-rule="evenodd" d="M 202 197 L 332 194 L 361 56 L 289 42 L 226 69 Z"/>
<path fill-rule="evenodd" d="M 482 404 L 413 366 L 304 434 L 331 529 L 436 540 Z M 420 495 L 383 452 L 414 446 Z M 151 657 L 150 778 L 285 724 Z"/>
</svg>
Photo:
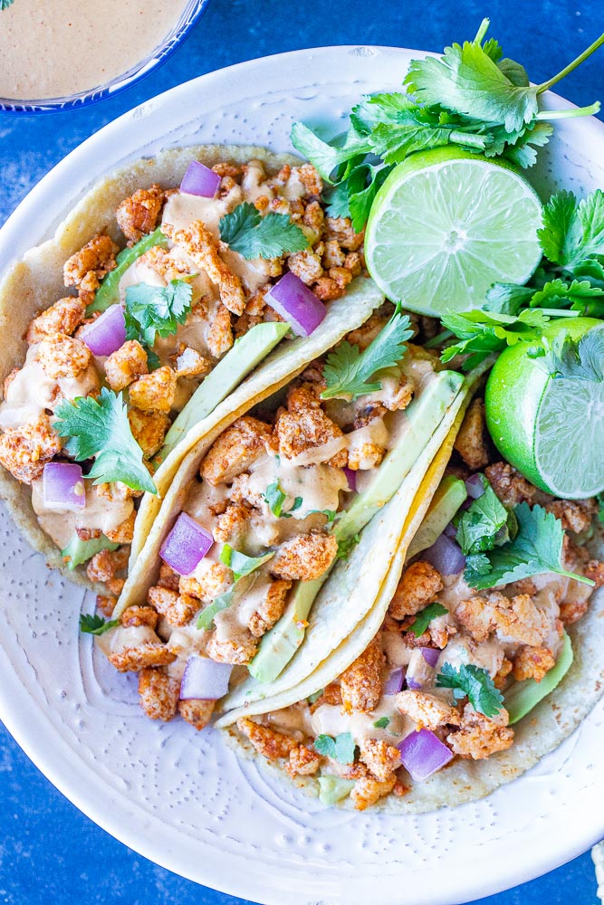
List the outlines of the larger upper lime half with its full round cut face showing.
<svg viewBox="0 0 604 905">
<path fill-rule="evenodd" d="M 436 148 L 399 164 L 371 207 L 369 273 L 388 299 L 440 317 L 484 304 L 494 282 L 524 283 L 542 251 L 542 205 L 502 161 Z"/>
</svg>

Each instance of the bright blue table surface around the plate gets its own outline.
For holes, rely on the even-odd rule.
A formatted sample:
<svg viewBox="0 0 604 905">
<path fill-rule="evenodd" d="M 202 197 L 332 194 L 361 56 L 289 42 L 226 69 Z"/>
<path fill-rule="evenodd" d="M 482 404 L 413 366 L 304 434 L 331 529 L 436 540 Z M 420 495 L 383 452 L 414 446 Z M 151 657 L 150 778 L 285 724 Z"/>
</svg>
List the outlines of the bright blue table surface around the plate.
<svg viewBox="0 0 604 905">
<path fill-rule="evenodd" d="M 440 51 L 474 36 L 484 15 L 506 56 L 545 81 L 602 28 L 601 0 L 213 0 L 187 42 L 160 70 L 87 110 L 43 117 L 0 114 L 0 223 L 34 183 L 84 138 L 160 91 L 231 63 L 322 44 L 374 43 Z M 0 14 L 1 15 L 1 14 Z M 520 25 L 520 27 L 519 27 Z M 604 51 L 559 88 L 580 105 L 604 100 Z M 0 902 L 54 905 L 225 905 L 242 902 L 197 886 L 141 858 L 83 816 L 42 776 L 0 725 Z M 401 894 L 402 895 L 402 894 Z M 401 898 L 402 901 L 402 898 Z M 484 905 L 596 905 L 589 853 Z"/>
</svg>

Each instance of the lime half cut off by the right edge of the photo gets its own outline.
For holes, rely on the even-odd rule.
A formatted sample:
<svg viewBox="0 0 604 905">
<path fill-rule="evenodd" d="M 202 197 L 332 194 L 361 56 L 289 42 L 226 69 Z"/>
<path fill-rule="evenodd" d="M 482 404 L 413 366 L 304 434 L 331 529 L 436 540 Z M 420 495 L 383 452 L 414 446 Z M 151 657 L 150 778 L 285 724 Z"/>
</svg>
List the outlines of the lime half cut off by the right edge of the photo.
<svg viewBox="0 0 604 905">
<path fill-rule="evenodd" d="M 580 338 L 601 320 L 558 320 Z M 486 424 L 505 459 L 542 491 L 583 500 L 604 491 L 604 383 L 553 379 L 542 359 L 528 357 L 523 343 L 495 362 L 484 393 Z"/>
</svg>

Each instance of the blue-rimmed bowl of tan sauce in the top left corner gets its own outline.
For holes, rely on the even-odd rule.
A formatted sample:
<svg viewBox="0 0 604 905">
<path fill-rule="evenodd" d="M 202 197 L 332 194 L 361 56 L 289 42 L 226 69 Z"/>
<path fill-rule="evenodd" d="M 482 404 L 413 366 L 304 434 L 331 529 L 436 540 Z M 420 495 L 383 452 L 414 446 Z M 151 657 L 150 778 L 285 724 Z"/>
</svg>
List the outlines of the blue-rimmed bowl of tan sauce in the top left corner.
<svg viewBox="0 0 604 905">
<path fill-rule="evenodd" d="M 209 0 L 0 0 L 0 111 L 71 110 L 129 88 Z"/>
</svg>

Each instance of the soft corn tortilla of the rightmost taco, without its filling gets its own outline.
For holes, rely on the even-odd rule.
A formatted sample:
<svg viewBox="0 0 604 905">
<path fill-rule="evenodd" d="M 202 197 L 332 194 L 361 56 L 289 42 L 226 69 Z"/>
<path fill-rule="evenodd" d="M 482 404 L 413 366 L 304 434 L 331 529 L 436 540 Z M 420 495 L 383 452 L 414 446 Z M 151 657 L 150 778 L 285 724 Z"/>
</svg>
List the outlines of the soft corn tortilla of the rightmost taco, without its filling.
<svg viewBox="0 0 604 905">
<path fill-rule="evenodd" d="M 254 708 L 252 705 L 249 710 L 242 708 L 232 711 L 218 721 L 219 727 L 225 727 L 229 744 L 236 748 L 238 753 L 243 753 L 244 757 L 258 756 L 248 739 L 232 725 L 234 719 L 287 707 L 319 691 L 344 672 L 378 633 L 402 573 L 408 545 L 421 524 L 445 472 L 459 423 L 458 421 L 451 430 L 446 443 L 441 447 L 419 487 L 417 498 L 406 519 L 397 554 L 391 563 L 391 574 L 383 582 L 375 604 L 350 638 L 342 643 L 327 661 L 322 662 L 306 681 L 301 682 L 293 690 L 295 694 L 283 693 L 279 697 L 264 700 L 262 702 L 264 706 L 261 708 Z M 392 513 L 393 517 L 395 513 L 396 508 Z M 373 559 L 375 563 L 379 559 L 379 549 L 380 542 L 377 537 L 375 544 L 366 548 L 369 560 Z M 595 557 L 604 557 L 604 541 L 601 538 L 593 545 L 591 552 Z M 604 588 L 592 595 L 587 614 L 579 622 L 568 626 L 567 631 L 574 652 L 570 670 L 550 695 L 514 725 L 515 738 L 512 748 L 482 761 L 455 758 L 450 766 L 440 770 L 425 782 L 414 784 L 407 795 L 402 797 L 388 795 L 374 805 L 373 810 L 386 814 L 421 814 L 440 807 L 463 805 L 484 798 L 504 783 L 521 776 L 542 757 L 557 748 L 564 738 L 579 726 L 580 721 L 592 710 L 604 691 L 604 662 L 601 656 L 604 648 Z M 266 761 L 264 757 L 260 760 L 263 767 L 272 774 L 286 782 L 292 782 L 286 770 Z M 293 782 L 307 794 L 318 797 L 320 787 L 315 777 L 299 776 Z M 338 806 L 354 810 L 349 798 L 341 801 Z"/>
</svg>

